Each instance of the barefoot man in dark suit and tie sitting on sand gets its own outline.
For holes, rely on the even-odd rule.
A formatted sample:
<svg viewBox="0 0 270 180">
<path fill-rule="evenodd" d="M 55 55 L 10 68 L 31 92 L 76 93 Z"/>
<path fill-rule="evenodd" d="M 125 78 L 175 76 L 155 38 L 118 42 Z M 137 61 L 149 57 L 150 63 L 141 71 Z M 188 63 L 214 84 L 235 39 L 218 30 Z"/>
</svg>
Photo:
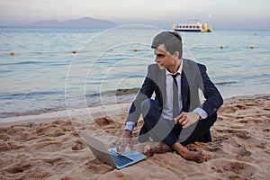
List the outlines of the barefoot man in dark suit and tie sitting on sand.
<svg viewBox="0 0 270 180">
<path fill-rule="evenodd" d="M 144 83 L 130 106 L 123 136 L 118 141 L 119 152 L 127 146 L 132 148 L 132 130 L 142 114 L 144 124 L 139 131 L 139 142 L 164 142 L 162 152 L 174 149 L 185 159 L 205 160 L 203 151 L 190 151 L 184 146 L 194 141 L 211 141 L 210 128 L 223 100 L 206 67 L 182 58 L 182 46 L 177 32 L 163 31 L 154 38 L 152 48 L 157 63 L 148 66 Z M 199 89 L 205 98 L 202 104 Z M 153 152 L 160 153 L 155 148 Z"/>
</svg>

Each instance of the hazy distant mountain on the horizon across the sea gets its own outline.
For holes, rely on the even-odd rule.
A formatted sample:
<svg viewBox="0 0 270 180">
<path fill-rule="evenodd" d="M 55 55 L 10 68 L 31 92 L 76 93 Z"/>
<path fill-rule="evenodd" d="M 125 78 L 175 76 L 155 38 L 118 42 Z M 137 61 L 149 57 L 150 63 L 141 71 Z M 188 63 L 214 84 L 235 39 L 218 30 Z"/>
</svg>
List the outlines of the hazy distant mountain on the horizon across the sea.
<svg viewBox="0 0 270 180">
<path fill-rule="evenodd" d="M 97 20 L 91 17 L 83 17 L 76 20 L 67 20 L 59 22 L 56 20 L 39 21 L 36 23 L 28 23 L 26 26 L 31 27 L 91 27 L 91 28 L 112 28 L 115 23 L 105 20 Z"/>
</svg>

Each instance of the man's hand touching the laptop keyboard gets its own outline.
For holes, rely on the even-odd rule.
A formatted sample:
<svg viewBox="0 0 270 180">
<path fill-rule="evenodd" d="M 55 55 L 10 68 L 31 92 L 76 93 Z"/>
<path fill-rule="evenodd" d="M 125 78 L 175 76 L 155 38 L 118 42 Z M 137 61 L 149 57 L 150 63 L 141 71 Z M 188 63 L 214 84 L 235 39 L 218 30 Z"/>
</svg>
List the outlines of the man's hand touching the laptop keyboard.
<svg viewBox="0 0 270 180">
<path fill-rule="evenodd" d="M 116 144 L 117 152 L 120 154 L 124 153 L 128 145 L 130 149 L 133 149 L 132 131 L 125 130 Z"/>
</svg>

